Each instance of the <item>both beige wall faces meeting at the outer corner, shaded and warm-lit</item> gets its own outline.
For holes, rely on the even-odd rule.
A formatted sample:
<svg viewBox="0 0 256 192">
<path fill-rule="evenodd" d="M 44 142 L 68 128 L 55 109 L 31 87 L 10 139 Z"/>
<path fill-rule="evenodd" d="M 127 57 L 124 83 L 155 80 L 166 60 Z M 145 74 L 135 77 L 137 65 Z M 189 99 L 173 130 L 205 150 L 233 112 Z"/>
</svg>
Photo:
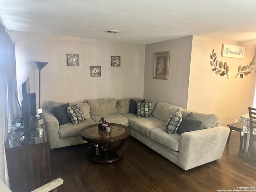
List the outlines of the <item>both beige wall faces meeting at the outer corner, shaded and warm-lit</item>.
<svg viewBox="0 0 256 192">
<path fill-rule="evenodd" d="M 222 44 L 245 46 L 244 59 L 221 57 Z M 230 67 L 226 76 L 216 75 L 210 65 L 212 49 L 217 60 Z M 202 113 L 219 116 L 223 126 L 235 122 L 253 106 L 255 70 L 244 78 L 236 76 L 239 65 L 250 64 L 255 44 L 188 36 L 146 45 L 144 98 L 163 101 Z M 153 78 L 154 53 L 170 51 L 169 79 Z"/>
</svg>

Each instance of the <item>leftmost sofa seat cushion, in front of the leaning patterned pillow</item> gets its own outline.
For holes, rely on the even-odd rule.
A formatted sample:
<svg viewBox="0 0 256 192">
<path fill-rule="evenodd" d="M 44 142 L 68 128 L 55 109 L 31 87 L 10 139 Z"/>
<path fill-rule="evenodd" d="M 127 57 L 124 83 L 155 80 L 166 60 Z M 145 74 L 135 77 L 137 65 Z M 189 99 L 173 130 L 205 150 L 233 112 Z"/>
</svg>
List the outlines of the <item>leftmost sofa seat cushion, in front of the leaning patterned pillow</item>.
<svg viewBox="0 0 256 192">
<path fill-rule="evenodd" d="M 96 124 L 96 123 L 92 119 L 87 118 L 85 121 L 77 125 L 73 125 L 72 122 L 68 122 L 64 125 L 60 125 L 59 137 L 68 138 L 68 137 L 79 136 L 82 128 L 85 128 L 86 126 L 93 125 L 93 124 Z"/>
</svg>

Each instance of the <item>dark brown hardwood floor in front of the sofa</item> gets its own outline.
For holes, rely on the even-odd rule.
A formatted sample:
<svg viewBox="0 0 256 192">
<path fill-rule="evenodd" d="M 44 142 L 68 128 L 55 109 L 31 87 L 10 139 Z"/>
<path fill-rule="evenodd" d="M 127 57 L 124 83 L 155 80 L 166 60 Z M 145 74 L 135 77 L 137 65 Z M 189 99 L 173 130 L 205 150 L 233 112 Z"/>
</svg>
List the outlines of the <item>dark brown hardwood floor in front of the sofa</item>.
<svg viewBox="0 0 256 192">
<path fill-rule="evenodd" d="M 233 131 L 220 160 L 184 171 L 130 136 L 114 164 L 90 162 L 88 144 L 51 150 L 52 179 L 64 180 L 59 192 L 233 191 L 256 186 L 256 145 L 248 159 L 247 148 L 239 150 L 239 132 Z"/>
</svg>

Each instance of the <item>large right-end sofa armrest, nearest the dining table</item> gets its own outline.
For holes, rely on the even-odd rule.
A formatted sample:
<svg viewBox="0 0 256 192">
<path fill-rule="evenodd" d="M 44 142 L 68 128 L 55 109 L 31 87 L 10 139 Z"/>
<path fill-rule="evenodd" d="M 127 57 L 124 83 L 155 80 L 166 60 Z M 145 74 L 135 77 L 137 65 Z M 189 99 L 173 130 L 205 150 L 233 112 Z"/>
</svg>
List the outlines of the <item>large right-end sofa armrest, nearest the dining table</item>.
<svg viewBox="0 0 256 192">
<path fill-rule="evenodd" d="M 229 128 L 218 126 L 181 134 L 178 166 L 188 170 L 220 159 L 229 132 Z"/>
</svg>

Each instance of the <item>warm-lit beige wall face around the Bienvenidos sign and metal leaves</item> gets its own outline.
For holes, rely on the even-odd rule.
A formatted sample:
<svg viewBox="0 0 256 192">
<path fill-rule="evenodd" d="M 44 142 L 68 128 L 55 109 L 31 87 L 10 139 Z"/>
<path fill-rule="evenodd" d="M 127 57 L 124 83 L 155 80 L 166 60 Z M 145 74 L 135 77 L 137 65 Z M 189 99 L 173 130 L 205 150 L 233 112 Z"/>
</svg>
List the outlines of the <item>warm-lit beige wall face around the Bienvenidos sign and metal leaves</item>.
<svg viewBox="0 0 256 192">
<path fill-rule="evenodd" d="M 243 59 L 222 57 L 222 44 L 244 46 Z M 210 65 L 212 50 L 217 53 L 217 60 L 227 62 L 230 70 L 229 78 L 216 75 Z M 255 44 L 194 36 L 190 64 L 188 87 L 188 109 L 203 113 L 215 113 L 222 126 L 235 122 L 240 115 L 248 113 L 252 106 L 256 83 L 255 70 L 240 78 L 239 65 L 250 64 L 255 55 Z"/>
</svg>

